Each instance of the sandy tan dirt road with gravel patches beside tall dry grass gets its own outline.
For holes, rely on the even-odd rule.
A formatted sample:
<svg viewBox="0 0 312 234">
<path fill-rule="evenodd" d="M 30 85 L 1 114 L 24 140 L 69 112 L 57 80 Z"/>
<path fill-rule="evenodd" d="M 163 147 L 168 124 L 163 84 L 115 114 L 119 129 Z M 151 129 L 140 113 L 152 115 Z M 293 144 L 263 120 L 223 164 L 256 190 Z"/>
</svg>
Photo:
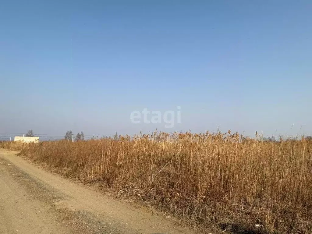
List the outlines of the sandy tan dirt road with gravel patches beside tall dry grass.
<svg viewBox="0 0 312 234">
<path fill-rule="evenodd" d="M 0 233 L 197 233 L 0 149 Z"/>
</svg>

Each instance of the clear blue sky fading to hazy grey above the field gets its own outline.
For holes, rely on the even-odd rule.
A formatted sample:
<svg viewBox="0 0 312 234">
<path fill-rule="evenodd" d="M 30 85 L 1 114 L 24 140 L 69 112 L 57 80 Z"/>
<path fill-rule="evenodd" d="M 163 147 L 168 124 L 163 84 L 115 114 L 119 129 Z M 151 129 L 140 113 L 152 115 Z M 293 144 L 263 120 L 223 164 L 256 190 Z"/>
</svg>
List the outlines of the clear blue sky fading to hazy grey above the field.
<svg viewBox="0 0 312 234">
<path fill-rule="evenodd" d="M 0 133 L 312 134 L 311 12 L 310 0 L 2 1 Z M 177 106 L 171 129 L 130 121 Z"/>
</svg>

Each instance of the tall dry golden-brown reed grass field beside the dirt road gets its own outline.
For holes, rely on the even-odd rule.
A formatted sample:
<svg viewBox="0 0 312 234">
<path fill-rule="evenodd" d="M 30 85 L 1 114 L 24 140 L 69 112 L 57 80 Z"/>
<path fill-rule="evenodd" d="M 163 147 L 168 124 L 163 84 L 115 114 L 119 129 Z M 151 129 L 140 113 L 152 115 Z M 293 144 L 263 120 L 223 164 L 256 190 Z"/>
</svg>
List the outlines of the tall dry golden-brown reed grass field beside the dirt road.
<svg viewBox="0 0 312 234">
<path fill-rule="evenodd" d="M 312 141 L 157 133 L 0 147 L 188 222 L 234 233 L 312 233 Z"/>
</svg>

